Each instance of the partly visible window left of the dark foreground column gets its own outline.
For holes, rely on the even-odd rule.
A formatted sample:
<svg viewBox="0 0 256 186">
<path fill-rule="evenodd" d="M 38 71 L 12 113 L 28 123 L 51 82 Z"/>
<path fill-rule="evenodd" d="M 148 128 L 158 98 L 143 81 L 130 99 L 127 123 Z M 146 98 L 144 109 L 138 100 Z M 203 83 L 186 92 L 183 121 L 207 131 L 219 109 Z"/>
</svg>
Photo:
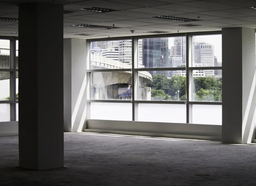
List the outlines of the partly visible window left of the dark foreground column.
<svg viewBox="0 0 256 186">
<path fill-rule="evenodd" d="M 17 59 L 15 46 L 14 37 L 0 39 L 0 122 L 17 119 L 18 72 L 16 69 L 17 63 L 15 63 Z"/>
</svg>

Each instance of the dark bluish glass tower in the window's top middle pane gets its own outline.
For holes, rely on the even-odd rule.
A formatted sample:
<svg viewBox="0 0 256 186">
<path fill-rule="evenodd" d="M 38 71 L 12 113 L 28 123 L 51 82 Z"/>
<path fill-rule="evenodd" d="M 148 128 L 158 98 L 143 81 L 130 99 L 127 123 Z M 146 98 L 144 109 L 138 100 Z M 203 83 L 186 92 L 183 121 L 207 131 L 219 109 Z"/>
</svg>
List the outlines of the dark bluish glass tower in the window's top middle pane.
<svg viewBox="0 0 256 186">
<path fill-rule="evenodd" d="M 145 68 L 168 67 L 168 38 L 143 39 Z"/>
</svg>

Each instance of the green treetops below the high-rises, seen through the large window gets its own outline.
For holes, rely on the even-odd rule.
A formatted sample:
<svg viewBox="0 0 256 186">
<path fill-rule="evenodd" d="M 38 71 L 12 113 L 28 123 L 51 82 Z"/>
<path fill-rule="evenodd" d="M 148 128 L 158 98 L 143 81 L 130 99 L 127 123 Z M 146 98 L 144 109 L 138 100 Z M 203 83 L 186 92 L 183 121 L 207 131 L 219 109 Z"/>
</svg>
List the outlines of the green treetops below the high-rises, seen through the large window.
<svg viewBox="0 0 256 186">
<path fill-rule="evenodd" d="M 172 76 L 167 78 L 165 74 L 152 74 L 153 82 L 147 84 L 151 87 L 152 100 L 179 100 L 186 99 L 186 77 Z M 215 77 L 199 77 L 193 79 L 194 101 L 221 102 L 222 79 Z"/>
</svg>

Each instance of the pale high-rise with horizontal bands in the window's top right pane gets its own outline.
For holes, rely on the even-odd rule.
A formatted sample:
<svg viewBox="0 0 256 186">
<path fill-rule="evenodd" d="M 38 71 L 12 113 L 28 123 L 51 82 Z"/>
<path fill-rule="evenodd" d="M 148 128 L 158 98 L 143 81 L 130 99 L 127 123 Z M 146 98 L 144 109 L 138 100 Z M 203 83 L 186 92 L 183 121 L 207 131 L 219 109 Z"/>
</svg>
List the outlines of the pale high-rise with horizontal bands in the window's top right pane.
<svg viewBox="0 0 256 186">
<path fill-rule="evenodd" d="M 202 67 L 214 67 L 214 46 L 207 43 L 199 43 L 194 46 L 193 63 L 201 64 Z M 214 75 L 214 70 L 204 72 L 205 76 Z"/>
</svg>

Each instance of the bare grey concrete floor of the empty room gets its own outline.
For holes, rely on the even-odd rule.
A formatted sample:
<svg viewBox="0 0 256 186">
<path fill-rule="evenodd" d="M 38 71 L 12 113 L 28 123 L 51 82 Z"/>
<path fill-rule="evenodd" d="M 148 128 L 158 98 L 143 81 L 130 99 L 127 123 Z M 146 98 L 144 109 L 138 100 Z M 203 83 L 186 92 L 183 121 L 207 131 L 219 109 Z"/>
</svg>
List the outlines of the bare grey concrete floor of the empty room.
<svg viewBox="0 0 256 186">
<path fill-rule="evenodd" d="M 25 171 L 0 137 L 0 186 L 255 186 L 256 146 L 111 134 L 65 136 L 65 169 Z"/>
</svg>

